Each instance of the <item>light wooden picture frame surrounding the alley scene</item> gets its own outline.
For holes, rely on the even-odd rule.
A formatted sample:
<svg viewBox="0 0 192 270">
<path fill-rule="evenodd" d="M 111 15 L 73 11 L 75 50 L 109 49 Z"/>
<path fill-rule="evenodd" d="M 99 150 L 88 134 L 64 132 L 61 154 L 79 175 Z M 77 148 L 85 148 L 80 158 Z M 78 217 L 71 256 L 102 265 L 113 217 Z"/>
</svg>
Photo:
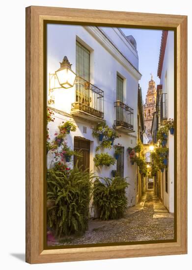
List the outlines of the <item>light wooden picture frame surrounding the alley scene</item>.
<svg viewBox="0 0 192 270">
<path fill-rule="evenodd" d="M 44 21 L 176 32 L 177 241 L 44 249 Z M 51 263 L 187 253 L 187 16 L 30 6 L 26 8 L 26 262 Z"/>
</svg>

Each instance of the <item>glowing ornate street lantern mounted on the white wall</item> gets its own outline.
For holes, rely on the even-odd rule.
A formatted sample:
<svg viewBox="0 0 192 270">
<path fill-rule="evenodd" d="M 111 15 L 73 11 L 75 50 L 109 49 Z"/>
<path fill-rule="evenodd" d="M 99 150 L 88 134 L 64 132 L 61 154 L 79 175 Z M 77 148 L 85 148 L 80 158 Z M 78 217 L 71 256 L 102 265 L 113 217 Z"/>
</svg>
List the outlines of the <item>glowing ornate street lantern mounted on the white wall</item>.
<svg viewBox="0 0 192 270">
<path fill-rule="evenodd" d="M 73 87 L 75 83 L 76 74 L 72 71 L 71 66 L 72 64 L 70 64 L 67 56 L 64 56 L 60 68 L 55 71 L 58 82 L 63 88 Z"/>
</svg>

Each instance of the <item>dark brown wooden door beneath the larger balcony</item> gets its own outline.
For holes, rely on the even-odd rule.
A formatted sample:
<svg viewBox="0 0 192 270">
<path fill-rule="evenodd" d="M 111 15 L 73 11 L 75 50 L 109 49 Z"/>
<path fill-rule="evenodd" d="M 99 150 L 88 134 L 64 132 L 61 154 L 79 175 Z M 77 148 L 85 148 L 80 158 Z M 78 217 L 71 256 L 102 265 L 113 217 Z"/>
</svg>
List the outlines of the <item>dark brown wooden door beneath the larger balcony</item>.
<svg viewBox="0 0 192 270">
<path fill-rule="evenodd" d="M 76 165 L 78 161 L 78 166 L 81 167 L 82 170 L 88 169 L 90 163 L 90 141 L 74 138 L 74 150 L 82 152 L 81 159 L 74 156 L 74 165 Z"/>
</svg>

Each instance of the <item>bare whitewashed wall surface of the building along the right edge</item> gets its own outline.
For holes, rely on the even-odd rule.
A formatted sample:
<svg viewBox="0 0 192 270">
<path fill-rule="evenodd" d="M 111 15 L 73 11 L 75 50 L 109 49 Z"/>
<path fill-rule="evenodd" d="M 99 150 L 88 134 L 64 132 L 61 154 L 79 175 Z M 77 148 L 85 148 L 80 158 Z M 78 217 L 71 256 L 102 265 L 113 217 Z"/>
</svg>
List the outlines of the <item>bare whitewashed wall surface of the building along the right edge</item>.
<svg viewBox="0 0 192 270">
<path fill-rule="evenodd" d="M 167 120 L 174 119 L 174 32 L 168 31 L 162 76 L 160 80 L 163 93 L 167 93 Z M 164 204 L 169 212 L 174 212 L 174 136 L 168 135 L 168 193 L 165 191 L 164 172 Z"/>
</svg>

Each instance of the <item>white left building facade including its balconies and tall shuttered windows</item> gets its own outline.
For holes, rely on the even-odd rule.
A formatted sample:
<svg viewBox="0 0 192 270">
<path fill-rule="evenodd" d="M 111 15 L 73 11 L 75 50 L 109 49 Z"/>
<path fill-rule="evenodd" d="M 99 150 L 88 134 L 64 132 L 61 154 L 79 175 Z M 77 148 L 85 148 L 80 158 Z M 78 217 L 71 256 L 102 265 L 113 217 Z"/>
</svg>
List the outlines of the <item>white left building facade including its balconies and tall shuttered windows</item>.
<svg viewBox="0 0 192 270">
<path fill-rule="evenodd" d="M 72 64 L 72 70 L 81 77 L 68 89 L 57 88 L 54 75 L 65 55 Z M 131 164 L 127 148 L 137 144 L 140 78 L 136 43 L 133 37 L 127 38 L 119 28 L 48 25 L 47 97 L 48 108 L 53 109 L 55 117 L 55 121 L 49 123 L 50 138 L 54 139 L 58 125 L 63 121 L 75 124 L 77 130 L 67 135 L 67 144 L 72 150 L 83 148 L 85 162 L 96 175 L 112 178 L 112 170 L 121 170 L 121 176 L 128 177 L 128 206 L 136 204 L 137 165 Z M 121 107 L 122 119 L 117 119 L 118 106 Z M 92 129 L 100 122 L 106 122 L 121 135 L 114 141 L 123 149 L 120 164 L 116 162 L 110 167 L 94 165 L 99 141 L 93 137 Z M 114 156 L 113 148 L 101 152 Z M 71 167 L 73 163 L 72 159 Z M 48 168 L 53 164 L 54 156 L 49 151 Z"/>
</svg>

